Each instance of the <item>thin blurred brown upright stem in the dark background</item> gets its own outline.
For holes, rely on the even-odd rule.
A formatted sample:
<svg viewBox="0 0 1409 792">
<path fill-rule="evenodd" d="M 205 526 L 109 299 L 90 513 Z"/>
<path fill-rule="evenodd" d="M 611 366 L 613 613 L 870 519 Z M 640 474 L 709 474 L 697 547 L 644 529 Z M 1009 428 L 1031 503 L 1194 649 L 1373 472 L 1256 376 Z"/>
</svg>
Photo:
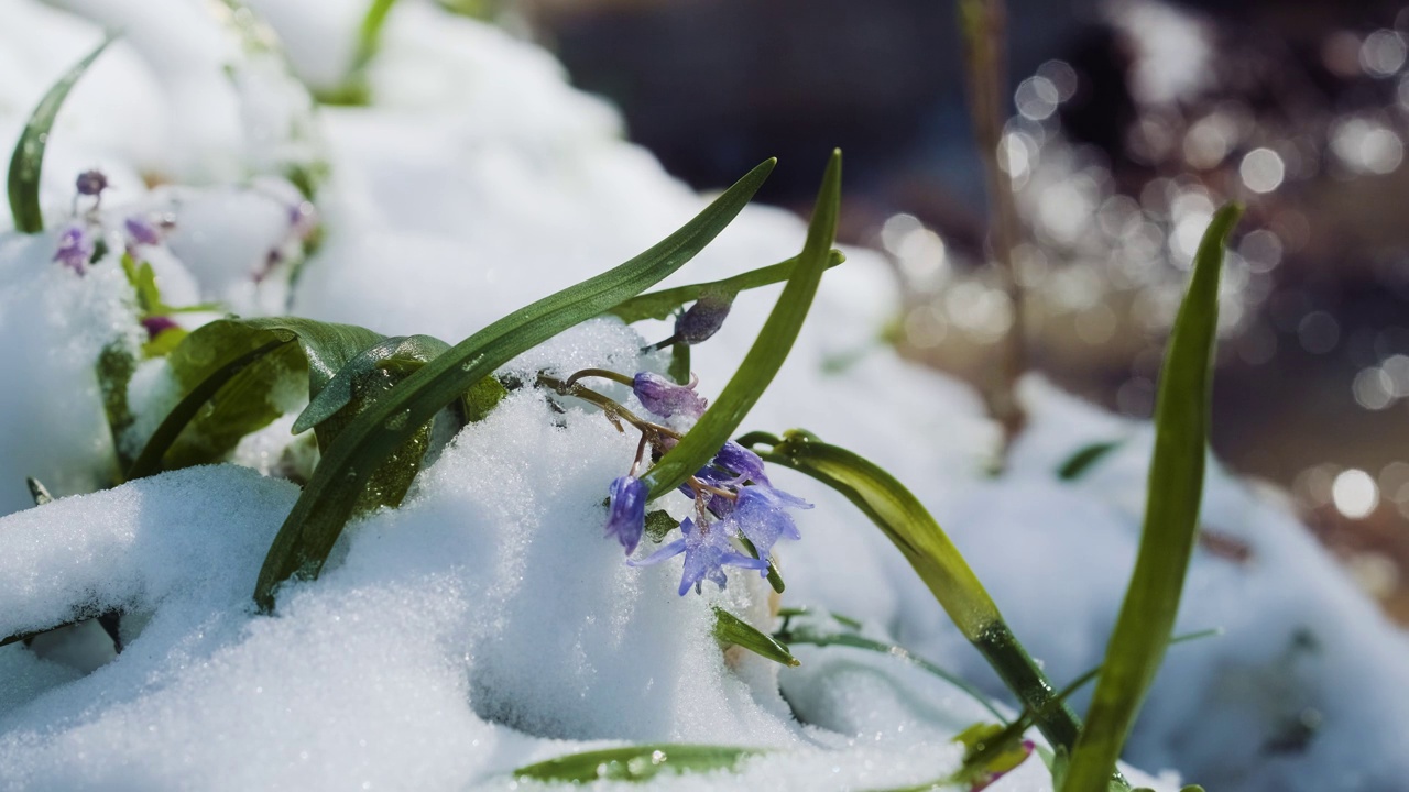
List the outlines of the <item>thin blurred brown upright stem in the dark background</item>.
<svg viewBox="0 0 1409 792">
<path fill-rule="evenodd" d="M 1017 404 L 1016 385 L 1027 368 L 1027 331 L 1023 295 L 1013 275 L 1017 247 L 1017 207 L 1013 183 L 999 168 L 998 152 L 1007 118 L 1006 10 L 1003 0 L 960 0 L 960 28 L 964 34 L 964 65 L 968 75 L 969 116 L 974 138 L 983 158 L 989 202 L 989 248 L 995 272 L 1013 309 L 1013 323 L 999 342 L 998 365 L 982 383 L 989 416 L 1003 427 L 1003 457 L 1022 430 L 1024 416 Z"/>
</svg>

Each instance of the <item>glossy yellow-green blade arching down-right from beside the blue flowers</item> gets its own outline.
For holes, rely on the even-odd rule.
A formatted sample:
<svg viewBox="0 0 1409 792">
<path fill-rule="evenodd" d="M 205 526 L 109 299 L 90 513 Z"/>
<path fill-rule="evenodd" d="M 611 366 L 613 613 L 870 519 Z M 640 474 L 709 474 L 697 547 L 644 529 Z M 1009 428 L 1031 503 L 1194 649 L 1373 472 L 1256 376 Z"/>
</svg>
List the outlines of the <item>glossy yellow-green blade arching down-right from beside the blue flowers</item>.
<svg viewBox="0 0 1409 792">
<path fill-rule="evenodd" d="M 868 459 L 792 430 L 783 438 L 751 433 L 741 445 L 771 444 L 759 455 L 806 474 L 851 500 L 905 555 L 964 637 L 993 667 L 1024 707 L 1040 713 L 1038 729 L 1054 745 L 1071 747 L 1081 722 L 1065 705 L 1048 707 L 1053 685 L 1013 637 L 993 599 L 983 590 L 958 548 L 920 500 L 895 476 Z"/>
</svg>

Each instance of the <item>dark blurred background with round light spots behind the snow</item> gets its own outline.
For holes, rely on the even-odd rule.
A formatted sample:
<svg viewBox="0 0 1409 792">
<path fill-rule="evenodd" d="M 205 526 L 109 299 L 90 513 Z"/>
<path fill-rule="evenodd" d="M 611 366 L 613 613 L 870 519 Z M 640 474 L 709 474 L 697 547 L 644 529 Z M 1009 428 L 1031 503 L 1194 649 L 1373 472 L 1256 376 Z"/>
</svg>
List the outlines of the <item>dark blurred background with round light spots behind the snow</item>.
<svg viewBox="0 0 1409 792">
<path fill-rule="evenodd" d="M 1291 492 L 1409 623 L 1409 7 L 1006 11 L 998 161 L 1020 220 L 1029 365 L 1147 417 L 1199 237 L 1219 204 L 1244 202 L 1213 445 Z M 699 189 L 776 155 L 802 166 L 778 171 L 762 197 L 806 210 L 826 154 L 845 149 L 844 241 L 893 261 L 906 293 L 895 338 L 974 380 L 992 366 L 1014 304 L 985 266 L 954 1 L 535 0 L 513 13 Z M 1210 528 L 1215 550 L 1246 557 Z"/>
</svg>

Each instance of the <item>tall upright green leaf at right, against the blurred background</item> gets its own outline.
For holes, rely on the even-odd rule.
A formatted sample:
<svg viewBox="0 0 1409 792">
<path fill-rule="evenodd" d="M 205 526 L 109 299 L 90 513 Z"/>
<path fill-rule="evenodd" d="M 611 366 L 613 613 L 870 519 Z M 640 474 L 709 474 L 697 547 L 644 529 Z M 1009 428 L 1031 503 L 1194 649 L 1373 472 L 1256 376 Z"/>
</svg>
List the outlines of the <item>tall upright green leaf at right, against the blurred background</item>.
<svg viewBox="0 0 1409 792">
<path fill-rule="evenodd" d="M 1220 209 L 1193 259 L 1160 373 L 1150 493 L 1134 574 L 1062 792 L 1105 792 L 1168 644 L 1199 528 L 1223 245 L 1241 209 Z"/>
</svg>

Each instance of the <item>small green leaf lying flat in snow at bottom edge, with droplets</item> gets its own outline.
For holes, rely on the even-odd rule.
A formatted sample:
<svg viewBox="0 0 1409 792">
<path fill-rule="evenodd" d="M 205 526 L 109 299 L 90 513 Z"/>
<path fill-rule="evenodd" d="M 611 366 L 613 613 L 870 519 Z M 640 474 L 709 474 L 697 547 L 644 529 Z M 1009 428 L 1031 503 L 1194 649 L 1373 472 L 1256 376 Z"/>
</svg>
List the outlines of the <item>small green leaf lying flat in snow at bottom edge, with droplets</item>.
<svg viewBox="0 0 1409 792">
<path fill-rule="evenodd" d="M 627 745 L 569 754 L 514 771 L 516 778 L 535 781 L 650 781 L 662 772 L 710 772 L 734 769 L 738 762 L 762 754 L 759 748 L 727 745 Z"/>
</svg>

